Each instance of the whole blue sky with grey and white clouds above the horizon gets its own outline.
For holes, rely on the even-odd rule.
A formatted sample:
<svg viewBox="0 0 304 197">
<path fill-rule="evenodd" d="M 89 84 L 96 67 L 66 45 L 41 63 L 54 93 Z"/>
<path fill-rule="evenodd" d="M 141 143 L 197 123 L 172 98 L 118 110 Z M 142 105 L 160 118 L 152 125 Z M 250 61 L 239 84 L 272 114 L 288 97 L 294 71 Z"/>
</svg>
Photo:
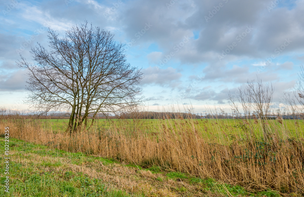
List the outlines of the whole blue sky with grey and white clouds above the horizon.
<svg viewBox="0 0 304 197">
<path fill-rule="evenodd" d="M 48 28 L 63 36 L 85 20 L 126 44 L 150 111 L 228 110 L 228 93 L 257 77 L 282 107 L 304 65 L 303 0 L 0 0 L 0 10 L 0 106 L 14 110 L 28 109 L 19 54 L 31 60 Z"/>
</svg>

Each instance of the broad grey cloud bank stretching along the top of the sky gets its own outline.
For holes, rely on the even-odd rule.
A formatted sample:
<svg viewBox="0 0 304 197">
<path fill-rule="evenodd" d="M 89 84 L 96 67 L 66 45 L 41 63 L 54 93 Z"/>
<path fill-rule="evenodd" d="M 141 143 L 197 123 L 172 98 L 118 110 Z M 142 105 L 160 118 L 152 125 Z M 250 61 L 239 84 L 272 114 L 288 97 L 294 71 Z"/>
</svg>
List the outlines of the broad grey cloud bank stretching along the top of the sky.
<svg viewBox="0 0 304 197">
<path fill-rule="evenodd" d="M 284 2 L 268 12 L 267 6 L 271 0 L 257 1 L 177 1 L 167 8 L 170 1 L 143 1 L 135 0 L 119 4 L 111 14 L 114 19 L 106 19 L 103 15 L 113 3 L 73 1 L 68 6 L 57 0 L 40 4 L 40 9 L 50 17 L 60 22 L 79 23 L 84 19 L 93 22 L 93 25 L 105 29 L 114 28 L 124 32 L 129 42 L 156 42 L 163 55 L 170 53 L 173 47 L 181 42 L 184 36 L 193 36 L 193 31 L 199 31 L 199 39 L 191 39 L 174 59 L 182 63 L 198 63 L 217 59 L 217 55 L 236 41 L 236 37 L 251 25 L 254 30 L 242 39 L 230 52 L 229 56 L 248 56 L 266 58 L 285 39 L 290 38 L 291 45 L 283 53 L 296 49 L 304 49 L 304 16 L 302 9 L 304 2 L 297 1 L 296 6 L 288 9 Z M 209 11 L 223 3 L 223 7 L 206 22 L 205 16 Z M 136 37 L 136 33 L 145 27 L 146 23 L 152 25 L 143 36 Z M 114 30 L 114 31 L 116 31 Z M 123 39 L 124 36 L 116 36 Z M 138 39 L 138 40 L 137 40 Z M 153 62 L 153 57 L 148 56 Z M 228 59 L 228 57 L 226 57 Z"/>
</svg>

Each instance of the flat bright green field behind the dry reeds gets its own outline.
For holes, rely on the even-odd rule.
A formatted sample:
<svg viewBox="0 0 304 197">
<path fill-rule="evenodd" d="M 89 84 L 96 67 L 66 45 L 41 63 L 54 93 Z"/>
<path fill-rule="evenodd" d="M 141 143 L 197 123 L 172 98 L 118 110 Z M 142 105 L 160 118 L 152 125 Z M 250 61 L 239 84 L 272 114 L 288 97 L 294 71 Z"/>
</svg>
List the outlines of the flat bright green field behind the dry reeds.
<svg viewBox="0 0 304 197">
<path fill-rule="evenodd" d="M 42 120 L 49 123 L 54 132 L 65 131 L 68 124 L 68 119 L 45 119 Z M 89 119 L 89 123 L 90 123 Z M 277 120 L 268 120 L 269 130 L 282 134 L 287 134 L 289 138 L 303 138 L 304 121 L 303 120 L 282 120 L 282 124 Z M 88 125 L 89 125 L 88 123 Z M 252 132 L 259 137 L 262 137 L 261 121 L 255 124 L 254 120 L 250 120 Z M 110 129 L 111 127 L 118 127 L 124 131 L 133 131 L 140 129 L 142 132 L 159 132 L 161 127 L 159 125 L 166 124 L 171 129 L 195 125 L 198 131 L 210 138 L 210 140 L 218 138 L 219 136 L 227 135 L 231 138 L 242 138 L 249 130 L 249 125 L 244 124 L 242 119 L 99 119 L 95 121 L 96 129 Z"/>
</svg>

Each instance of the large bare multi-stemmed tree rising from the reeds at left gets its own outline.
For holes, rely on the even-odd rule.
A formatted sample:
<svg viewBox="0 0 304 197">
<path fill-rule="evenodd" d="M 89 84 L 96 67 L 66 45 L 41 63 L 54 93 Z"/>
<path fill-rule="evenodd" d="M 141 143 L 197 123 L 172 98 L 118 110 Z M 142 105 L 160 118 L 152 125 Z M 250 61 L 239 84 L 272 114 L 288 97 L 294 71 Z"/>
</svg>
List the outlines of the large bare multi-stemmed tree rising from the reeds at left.
<svg viewBox="0 0 304 197">
<path fill-rule="evenodd" d="M 33 64 L 21 56 L 19 66 L 28 70 L 28 104 L 41 113 L 71 112 L 69 131 L 84 123 L 89 114 L 116 112 L 139 104 L 140 69 L 126 61 L 124 44 L 109 31 L 88 25 L 73 26 L 59 37 L 49 29 L 49 50 L 31 48 Z"/>
</svg>

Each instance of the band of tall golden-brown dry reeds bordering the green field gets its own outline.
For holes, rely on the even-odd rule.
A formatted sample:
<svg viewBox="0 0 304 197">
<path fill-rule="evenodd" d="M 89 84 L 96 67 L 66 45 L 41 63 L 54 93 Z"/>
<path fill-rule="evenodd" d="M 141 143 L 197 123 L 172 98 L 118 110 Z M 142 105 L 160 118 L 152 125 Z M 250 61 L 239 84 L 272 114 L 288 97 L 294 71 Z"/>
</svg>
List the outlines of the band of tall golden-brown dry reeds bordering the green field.
<svg viewBox="0 0 304 197">
<path fill-rule="evenodd" d="M 200 127 L 196 119 L 167 117 L 154 121 L 146 130 L 142 122 L 133 121 L 131 126 L 130 120 L 110 120 L 108 127 L 82 129 L 71 136 L 53 132 L 49 123 L 39 120 L 6 119 L 0 122 L 0 128 L 9 126 L 11 138 L 67 151 L 117 158 L 146 167 L 157 165 L 245 188 L 304 193 L 303 140 L 291 139 L 288 128 L 281 123 L 267 123 L 269 136 L 263 140 L 248 130 L 263 127 L 257 120 L 236 122 L 243 125 L 244 133 L 234 137 L 229 135 L 225 120 L 204 120 L 207 126 Z M 4 134 L 4 129 L 0 134 Z"/>
</svg>

